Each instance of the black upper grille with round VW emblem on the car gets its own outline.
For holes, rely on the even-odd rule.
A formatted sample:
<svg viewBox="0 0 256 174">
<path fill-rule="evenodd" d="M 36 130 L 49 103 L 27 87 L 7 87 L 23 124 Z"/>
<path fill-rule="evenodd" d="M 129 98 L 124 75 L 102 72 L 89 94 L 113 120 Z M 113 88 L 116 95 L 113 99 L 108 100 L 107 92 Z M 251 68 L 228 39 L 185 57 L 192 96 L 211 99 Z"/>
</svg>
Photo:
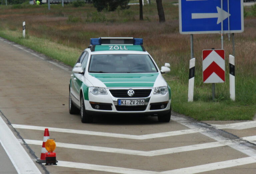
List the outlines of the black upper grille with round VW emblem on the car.
<svg viewBox="0 0 256 174">
<path fill-rule="evenodd" d="M 131 98 L 127 91 L 129 89 L 110 89 L 111 94 L 116 98 Z M 148 97 L 152 91 L 152 89 L 134 89 L 134 95 L 132 98 L 141 98 Z"/>
</svg>

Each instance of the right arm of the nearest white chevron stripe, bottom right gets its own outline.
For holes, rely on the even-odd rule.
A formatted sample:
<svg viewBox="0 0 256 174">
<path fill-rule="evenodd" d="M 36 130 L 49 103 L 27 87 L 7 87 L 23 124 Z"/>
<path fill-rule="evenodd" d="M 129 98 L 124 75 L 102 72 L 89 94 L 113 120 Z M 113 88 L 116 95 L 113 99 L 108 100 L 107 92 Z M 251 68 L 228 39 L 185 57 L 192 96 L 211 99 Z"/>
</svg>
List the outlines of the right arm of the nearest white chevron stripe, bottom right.
<svg viewBox="0 0 256 174">
<path fill-rule="evenodd" d="M 224 169 L 228 167 L 235 167 L 235 166 L 241 166 L 245 164 L 252 164 L 256 163 L 256 156 L 246 157 L 246 158 L 239 158 L 239 159 L 233 159 L 228 161 L 221 161 L 216 163 L 210 163 L 210 164 L 204 164 L 199 166 L 193 166 L 193 167 L 187 167 L 182 169 L 175 169 L 175 170 L 169 170 L 162 173 L 200 173 L 200 172 L 207 172 L 211 170 L 217 170 L 217 169 Z"/>
</svg>

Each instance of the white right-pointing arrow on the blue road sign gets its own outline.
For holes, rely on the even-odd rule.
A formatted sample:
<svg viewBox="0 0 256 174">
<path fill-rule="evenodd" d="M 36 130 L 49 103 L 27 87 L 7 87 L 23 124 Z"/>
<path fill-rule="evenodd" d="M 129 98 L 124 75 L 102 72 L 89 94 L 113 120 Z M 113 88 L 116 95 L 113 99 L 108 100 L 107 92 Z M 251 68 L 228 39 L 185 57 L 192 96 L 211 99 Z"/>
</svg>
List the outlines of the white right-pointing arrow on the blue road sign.
<svg viewBox="0 0 256 174">
<path fill-rule="evenodd" d="M 218 18 L 217 24 L 221 23 L 221 8 L 217 6 L 218 13 L 192 13 L 192 19 Z M 222 10 L 223 20 L 227 19 L 230 14 Z"/>
</svg>

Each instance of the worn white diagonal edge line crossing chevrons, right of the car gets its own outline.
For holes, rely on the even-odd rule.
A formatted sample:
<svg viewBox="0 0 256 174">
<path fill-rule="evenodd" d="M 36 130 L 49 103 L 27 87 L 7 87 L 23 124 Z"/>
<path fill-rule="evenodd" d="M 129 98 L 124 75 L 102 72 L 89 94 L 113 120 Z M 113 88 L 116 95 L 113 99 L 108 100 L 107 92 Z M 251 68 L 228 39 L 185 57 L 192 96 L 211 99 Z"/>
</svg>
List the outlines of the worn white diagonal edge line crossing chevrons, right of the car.
<svg viewBox="0 0 256 174">
<path fill-rule="evenodd" d="M 198 127 L 200 127 L 199 124 L 192 123 L 192 122 L 188 121 L 185 118 L 172 116 L 172 120 L 174 120 L 174 121 L 176 121 L 176 122 L 178 122 L 178 123 L 180 123 L 184 126 L 187 126 L 190 129 L 196 129 L 197 130 Z M 200 132 L 201 134 L 203 134 L 207 137 L 210 137 L 210 138 L 212 138 L 216 141 L 221 142 L 221 141 L 229 140 L 228 138 L 225 138 L 225 137 L 221 136 L 220 134 L 211 131 L 209 128 L 202 128 L 202 129 L 204 129 L 205 131 Z M 228 146 L 235 149 L 235 150 L 238 150 L 238 151 L 240 151 L 240 152 L 242 152 L 242 153 L 244 153 L 248 156 L 256 156 L 256 150 L 246 146 L 244 143 L 245 142 L 241 141 L 241 143 L 237 142 L 237 143 L 230 144 Z"/>
</svg>

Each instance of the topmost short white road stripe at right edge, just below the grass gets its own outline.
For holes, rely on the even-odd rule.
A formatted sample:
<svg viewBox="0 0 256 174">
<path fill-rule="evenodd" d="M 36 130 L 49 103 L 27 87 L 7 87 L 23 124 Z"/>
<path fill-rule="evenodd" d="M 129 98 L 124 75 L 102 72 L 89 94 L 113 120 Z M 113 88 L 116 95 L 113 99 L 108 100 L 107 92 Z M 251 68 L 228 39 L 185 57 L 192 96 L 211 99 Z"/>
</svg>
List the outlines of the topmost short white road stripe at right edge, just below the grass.
<svg viewBox="0 0 256 174">
<path fill-rule="evenodd" d="M 212 124 L 212 126 L 215 126 L 218 129 L 236 129 L 236 130 L 242 130 L 242 129 L 249 129 L 256 127 L 256 121 L 246 121 L 246 122 L 239 122 L 239 123 L 231 123 L 231 124 Z"/>
</svg>

